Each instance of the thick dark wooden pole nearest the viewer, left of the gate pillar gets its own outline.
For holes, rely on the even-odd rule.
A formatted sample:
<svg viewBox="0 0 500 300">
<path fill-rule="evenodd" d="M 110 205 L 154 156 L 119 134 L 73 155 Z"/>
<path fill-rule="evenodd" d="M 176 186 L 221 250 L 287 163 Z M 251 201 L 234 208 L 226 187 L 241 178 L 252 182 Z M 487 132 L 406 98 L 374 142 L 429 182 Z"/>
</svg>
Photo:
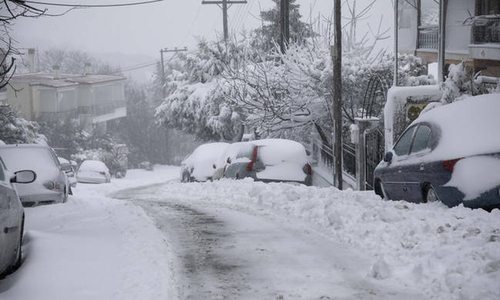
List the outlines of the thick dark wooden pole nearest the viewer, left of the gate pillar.
<svg viewBox="0 0 500 300">
<path fill-rule="evenodd" d="M 333 61 L 333 154 L 335 157 L 335 171 L 333 181 L 336 187 L 342 189 L 342 26 L 340 0 L 334 2 L 334 45 L 331 47 Z"/>
</svg>

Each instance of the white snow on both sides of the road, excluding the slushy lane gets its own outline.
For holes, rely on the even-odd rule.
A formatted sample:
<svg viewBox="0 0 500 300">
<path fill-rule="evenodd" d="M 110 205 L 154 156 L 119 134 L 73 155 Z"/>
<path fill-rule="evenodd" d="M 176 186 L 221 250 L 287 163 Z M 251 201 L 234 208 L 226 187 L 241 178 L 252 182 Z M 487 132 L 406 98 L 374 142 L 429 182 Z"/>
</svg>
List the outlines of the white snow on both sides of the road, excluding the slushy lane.
<svg viewBox="0 0 500 300">
<path fill-rule="evenodd" d="M 250 180 L 179 184 L 172 180 L 177 177 L 175 167 L 131 170 L 110 184 L 79 184 L 67 204 L 26 209 L 24 262 L 0 281 L 0 299 L 182 298 L 178 286 L 185 283 L 175 274 L 172 240 L 137 200 L 111 198 L 130 198 L 128 193 L 140 190 L 152 202 L 182 199 L 207 209 L 222 207 L 227 220 L 237 218 L 229 209 L 266 212 L 279 224 L 299 220 L 301 228 L 324 236 L 325 247 L 341 245 L 343 263 L 354 268 L 349 274 L 360 284 L 418 291 L 427 299 L 500 299 L 498 210 L 387 202 L 370 192 Z M 143 185 L 148 187 L 137 189 Z M 123 189 L 128 191 L 118 192 Z M 317 246 L 321 257 L 322 247 Z M 353 261 L 356 253 L 361 263 Z M 292 280 L 283 280 L 280 288 L 293 287 Z"/>
</svg>

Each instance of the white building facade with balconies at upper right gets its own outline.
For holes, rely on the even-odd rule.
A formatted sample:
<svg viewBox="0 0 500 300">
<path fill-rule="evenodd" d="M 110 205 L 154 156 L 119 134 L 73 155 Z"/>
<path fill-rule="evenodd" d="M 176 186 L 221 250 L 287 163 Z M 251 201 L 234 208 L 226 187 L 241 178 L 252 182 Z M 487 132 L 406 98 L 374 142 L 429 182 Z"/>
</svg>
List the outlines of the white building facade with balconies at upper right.
<svg viewBox="0 0 500 300">
<path fill-rule="evenodd" d="M 437 62 L 437 2 L 399 0 L 399 52 Z M 445 65 L 465 61 L 474 73 L 500 77 L 500 0 L 446 0 L 445 6 Z"/>
</svg>

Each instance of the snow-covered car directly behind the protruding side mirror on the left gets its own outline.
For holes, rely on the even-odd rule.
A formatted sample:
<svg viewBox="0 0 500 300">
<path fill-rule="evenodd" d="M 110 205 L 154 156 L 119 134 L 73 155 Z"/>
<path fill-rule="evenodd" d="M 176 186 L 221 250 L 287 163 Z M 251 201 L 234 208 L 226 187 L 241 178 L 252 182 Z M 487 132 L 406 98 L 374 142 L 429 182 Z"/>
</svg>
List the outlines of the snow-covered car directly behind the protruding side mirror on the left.
<svg viewBox="0 0 500 300">
<path fill-rule="evenodd" d="M 0 156 L 13 172 L 33 170 L 36 179 L 29 184 L 14 184 L 22 205 L 25 207 L 65 203 L 69 193 L 67 166 L 61 166 L 55 152 L 38 144 L 0 146 Z"/>
</svg>

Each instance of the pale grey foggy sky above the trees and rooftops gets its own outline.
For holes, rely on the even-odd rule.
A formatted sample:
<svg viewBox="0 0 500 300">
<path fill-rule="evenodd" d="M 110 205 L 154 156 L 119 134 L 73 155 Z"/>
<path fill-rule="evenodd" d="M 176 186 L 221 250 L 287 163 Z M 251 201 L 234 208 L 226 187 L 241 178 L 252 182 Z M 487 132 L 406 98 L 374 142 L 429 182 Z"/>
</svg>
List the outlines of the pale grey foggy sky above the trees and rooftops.
<svg viewBox="0 0 500 300">
<path fill-rule="evenodd" d="M 138 0 L 46 0 L 53 3 L 108 4 Z M 319 14 L 329 17 L 333 0 L 297 0 L 304 21 Z M 343 1 L 342 1 L 343 2 Z M 358 0 L 358 7 L 369 0 Z M 43 5 L 36 4 L 36 7 Z M 259 11 L 273 6 L 271 0 L 248 0 L 233 4 L 228 10 L 228 26 L 232 32 L 252 29 L 261 24 Z M 49 13 L 64 8 L 46 6 Z M 345 10 L 345 8 L 344 8 Z M 378 0 L 370 17 L 360 23 L 376 27 L 383 14 L 383 26 L 391 27 L 393 14 L 390 0 Z M 80 49 L 89 53 L 141 54 L 159 57 L 159 49 L 184 47 L 193 49 L 195 37 L 215 40 L 222 35 L 222 10 L 201 0 L 164 0 L 162 2 L 109 8 L 74 9 L 62 16 L 20 18 L 13 25 L 12 36 L 18 48 L 34 47 L 40 51 L 52 47 Z M 389 31 L 392 33 L 392 31 Z M 390 50 L 390 45 L 388 45 Z"/>
</svg>

